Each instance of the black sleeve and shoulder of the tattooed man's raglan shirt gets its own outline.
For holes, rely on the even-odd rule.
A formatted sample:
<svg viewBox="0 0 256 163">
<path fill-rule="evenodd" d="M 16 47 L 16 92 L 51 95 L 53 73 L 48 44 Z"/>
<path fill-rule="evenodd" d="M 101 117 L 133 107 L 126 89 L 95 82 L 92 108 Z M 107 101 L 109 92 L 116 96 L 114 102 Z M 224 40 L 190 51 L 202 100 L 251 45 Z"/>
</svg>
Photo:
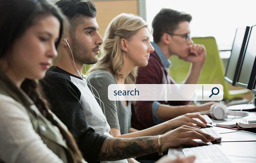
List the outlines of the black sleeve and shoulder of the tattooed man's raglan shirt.
<svg viewBox="0 0 256 163">
<path fill-rule="evenodd" d="M 85 160 L 94 163 L 107 136 L 95 133 L 94 129 L 88 126 L 79 101 L 81 92 L 71 81 L 71 76 L 81 79 L 52 66 L 47 70 L 45 78 L 39 82 L 53 113 L 73 134 Z"/>
</svg>

